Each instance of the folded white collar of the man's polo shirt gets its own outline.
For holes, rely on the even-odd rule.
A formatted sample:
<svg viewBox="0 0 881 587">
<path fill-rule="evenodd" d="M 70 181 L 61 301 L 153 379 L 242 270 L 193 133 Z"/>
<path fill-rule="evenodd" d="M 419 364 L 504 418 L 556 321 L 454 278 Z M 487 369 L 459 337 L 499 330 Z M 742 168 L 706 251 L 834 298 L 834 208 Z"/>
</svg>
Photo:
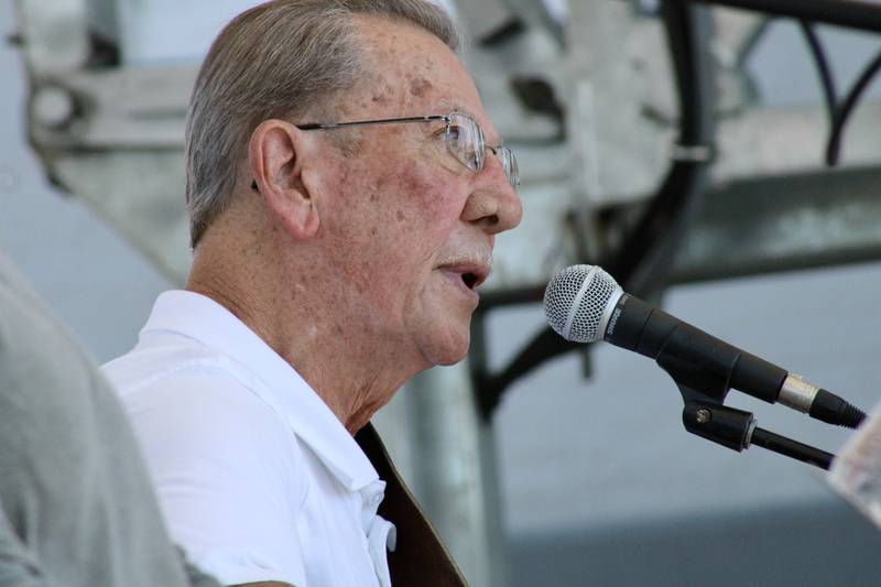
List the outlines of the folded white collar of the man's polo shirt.
<svg viewBox="0 0 881 587">
<path fill-rule="evenodd" d="M 227 308 L 188 291 L 162 293 L 141 330 L 171 331 L 202 343 L 246 367 L 258 390 L 349 491 L 377 487 L 379 475 L 355 438 L 294 368 Z M 264 396 L 269 393 L 270 396 Z M 368 487 L 370 486 L 370 487 Z M 371 491 L 372 492 L 372 491 Z"/>
</svg>

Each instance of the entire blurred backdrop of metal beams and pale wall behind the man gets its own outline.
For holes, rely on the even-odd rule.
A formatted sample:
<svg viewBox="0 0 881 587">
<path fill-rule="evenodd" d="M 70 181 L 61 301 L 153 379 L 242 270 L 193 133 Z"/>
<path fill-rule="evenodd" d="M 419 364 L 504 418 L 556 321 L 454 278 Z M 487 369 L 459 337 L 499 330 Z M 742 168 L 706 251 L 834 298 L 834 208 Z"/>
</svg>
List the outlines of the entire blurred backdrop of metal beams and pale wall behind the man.
<svg viewBox="0 0 881 587">
<path fill-rule="evenodd" d="M 0 247 L 101 361 L 186 274 L 189 88 L 253 3 L 0 4 Z M 772 10 L 794 4 L 445 2 L 518 151 L 524 221 L 498 241 L 469 365 L 417 378 L 379 425 L 474 585 L 879 583 L 881 534 L 818 470 L 690 436 L 651 361 L 542 334 L 547 279 L 599 263 L 851 403 L 881 399 L 881 3 Z M 849 434 L 729 403 L 826 450 Z"/>
</svg>

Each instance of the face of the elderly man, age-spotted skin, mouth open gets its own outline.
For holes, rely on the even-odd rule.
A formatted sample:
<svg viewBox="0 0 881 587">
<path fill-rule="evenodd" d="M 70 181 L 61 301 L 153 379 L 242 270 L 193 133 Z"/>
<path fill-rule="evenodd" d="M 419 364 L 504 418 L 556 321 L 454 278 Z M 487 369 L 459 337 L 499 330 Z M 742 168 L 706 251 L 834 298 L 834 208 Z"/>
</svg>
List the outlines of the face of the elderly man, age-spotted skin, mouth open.
<svg viewBox="0 0 881 587">
<path fill-rule="evenodd" d="M 446 115 L 474 117 L 488 144 L 499 137 L 471 77 L 443 42 L 412 25 L 362 19 L 370 84 L 351 93 L 338 121 Z M 417 368 L 461 360 L 475 286 L 488 275 L 494 235 L 520 222 L 520 198 L 488 149 L 479 172 L 446 150 L 443 121 L 359 127 L 328 140 L 320 237 L 340 275 L 347 339 L 398 349 Z M 363 335 L 363 336 L 361 336 Z"/>
</svg>

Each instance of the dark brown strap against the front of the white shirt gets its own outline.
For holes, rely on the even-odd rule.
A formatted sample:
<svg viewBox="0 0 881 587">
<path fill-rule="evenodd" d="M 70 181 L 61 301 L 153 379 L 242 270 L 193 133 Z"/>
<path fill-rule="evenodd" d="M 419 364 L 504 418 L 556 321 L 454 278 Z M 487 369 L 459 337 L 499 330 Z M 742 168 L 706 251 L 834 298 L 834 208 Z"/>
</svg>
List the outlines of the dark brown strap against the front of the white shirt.
<svg viewBox="0 0 881 587">
<path fill-rule="evenodd" d="M 372 424 L 361 428 L 355 439 L 380 479 L 385 481 L 385 498 L 379 507 L 379 514 L 398 530 L 398 545 L 394 552 L 389 553 L 392 584 L 403 587 L 467 586 L 453 557 L 394 469 Z"/>
</svg>

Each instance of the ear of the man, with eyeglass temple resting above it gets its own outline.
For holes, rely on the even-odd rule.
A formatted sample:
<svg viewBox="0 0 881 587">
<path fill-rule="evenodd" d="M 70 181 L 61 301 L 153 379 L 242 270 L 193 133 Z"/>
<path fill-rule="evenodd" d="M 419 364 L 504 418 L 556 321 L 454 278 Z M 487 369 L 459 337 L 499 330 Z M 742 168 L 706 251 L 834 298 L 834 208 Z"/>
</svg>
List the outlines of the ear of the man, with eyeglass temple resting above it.
<svg viewBox="0 0 881 587">
<path fill-rule="evenodd" d="M 291 236 L 302 240 L 315 236 L 320 224 L 316 194 L 302 178 L 308 146 L 303 131 L 276 119 L 261 122 L 248 146 L 251 177 L 268 210 Z"/>
</svg>

